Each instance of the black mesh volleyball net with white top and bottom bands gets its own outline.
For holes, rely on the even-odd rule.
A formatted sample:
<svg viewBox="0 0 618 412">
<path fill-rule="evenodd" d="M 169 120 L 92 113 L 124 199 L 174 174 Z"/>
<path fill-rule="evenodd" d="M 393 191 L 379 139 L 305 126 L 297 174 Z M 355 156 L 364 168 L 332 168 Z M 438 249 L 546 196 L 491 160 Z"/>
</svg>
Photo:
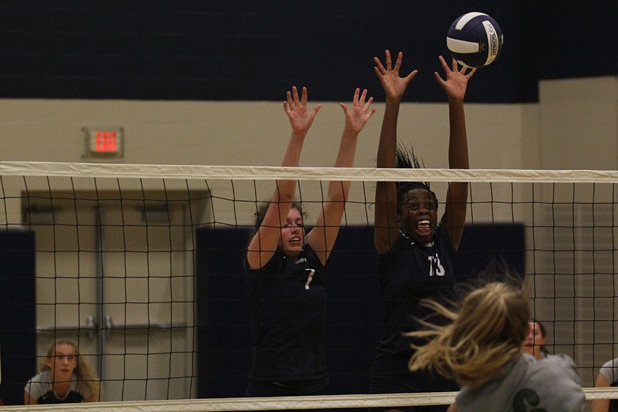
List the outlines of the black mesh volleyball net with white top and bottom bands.
<svg viewBox="0 0 618 412">
<path fill-rule="evenodd" d="M 308 400 L 240 399 L 251 345 L 244 251 L 277 179 L 298 181 L 308 227 L 328 182 L 352 181 L 326 269 L 330 385 Z M 22 398 L 47 345 L 67 338 L 101 378 L 100 410 L 449 403 L 453 393 L 363 395 L 381 325 L 376 181 L 429 182 L 438 213 L 448 182 L 468 182 L 457 271 L 501 262 L 525 275 L 547 350 L 573 357 L 582 386 L 594 386 L 618 357 L 618 172 L 0 162 L 3 393 Z"/>
</svg>

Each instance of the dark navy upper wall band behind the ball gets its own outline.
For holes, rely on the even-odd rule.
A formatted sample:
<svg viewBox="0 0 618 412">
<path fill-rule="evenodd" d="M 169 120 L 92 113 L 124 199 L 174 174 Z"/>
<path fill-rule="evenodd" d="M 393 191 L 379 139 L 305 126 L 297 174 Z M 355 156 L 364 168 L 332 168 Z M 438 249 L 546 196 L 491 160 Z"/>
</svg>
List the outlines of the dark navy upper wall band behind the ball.
<svg viewBox="0 0 618 412">
<path fill-rule="evenodd" d="M 389 48 L 419 69 L 406 99 L 442 102 L 433 71 L 446 30 L 482 11 L 505 45 L 468 102 L 534 102 L 540 78 L 618 72 L 616 4 L 4 0 L 0 98 L 282 100 L 301 84 L 314 101 L 347 101 L 356 87 L 380 100 L 372 58 Z"/>
</svg>

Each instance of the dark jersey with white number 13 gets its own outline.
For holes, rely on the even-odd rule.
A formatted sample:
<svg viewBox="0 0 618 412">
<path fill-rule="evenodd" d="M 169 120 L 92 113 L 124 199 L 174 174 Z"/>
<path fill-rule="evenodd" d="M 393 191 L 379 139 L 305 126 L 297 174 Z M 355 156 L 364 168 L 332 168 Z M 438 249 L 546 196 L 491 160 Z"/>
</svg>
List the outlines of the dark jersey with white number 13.
<svg viewBox="0 0 618 412">
<path fill-rule="evenodd" d="M 391 250 L 380 255 L 384 326 L 378 353 L 409 358 L 411 339 L 402 334 L 419 328 L 415 319 L 441 322 L 431 309 L 420 306 L 420 299 L 444 303 L 450 297 L 455 286 L 454 256 L 455 247 L 442 225 L 431 245 L 416 244 L 400 233 Z"/>
</svg>

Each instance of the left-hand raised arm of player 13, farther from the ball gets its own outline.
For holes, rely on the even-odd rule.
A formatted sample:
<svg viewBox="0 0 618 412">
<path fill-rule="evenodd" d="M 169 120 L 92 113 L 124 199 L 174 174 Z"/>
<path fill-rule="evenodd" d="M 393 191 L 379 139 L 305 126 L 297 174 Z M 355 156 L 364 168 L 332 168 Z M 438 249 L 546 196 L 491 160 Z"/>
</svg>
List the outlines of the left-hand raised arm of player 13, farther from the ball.
<svg viewBox="0 0 618 412">
<path fill-rule="evenodd" d="M 399 106 L 408 84 L 416 76 L 417 70 L 408 76 L 401 78 L 399 70 L 403 54 L 399 52 L 395 67 L 392 67 L 391 53 L 385 52 L 386 67 L 380 59 L 374 57 L 376 66 L 374 70 L 386 93 L 386 106 L 382 130 L 380 131 L 380 144 L 378 145 L 378 168 L 394 168 L 395 154 L 397 149 L 397 119 Z M 378 182 L 376 184 L 376 209 L 374 223 L 374 244 L 378 253 L 386 253 L 391 250 L 399 233 L 397 219 L 397 190 L 395 182 Z"/>
</svg>

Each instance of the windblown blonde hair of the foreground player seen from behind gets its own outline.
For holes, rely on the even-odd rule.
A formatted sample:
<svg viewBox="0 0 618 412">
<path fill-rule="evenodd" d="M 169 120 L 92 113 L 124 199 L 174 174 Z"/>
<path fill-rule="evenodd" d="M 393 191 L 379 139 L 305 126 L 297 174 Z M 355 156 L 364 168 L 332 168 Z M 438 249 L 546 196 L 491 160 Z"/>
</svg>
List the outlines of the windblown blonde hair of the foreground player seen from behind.
<svg viewBox="0 0 618 412">
<path fill-rule="evenodd" d="M 421 321 L 428 330 L 410 336 L 431 338 L 415 346 L 411 371 L 435 369 L 459 385 L 481 387 L 522 353 L 530 310 L 521 286 L 492 282 L 472 291 L 454 312 L 434 301 L 426 306 L 453 323 L 445 326 Z"/>
</svg>

